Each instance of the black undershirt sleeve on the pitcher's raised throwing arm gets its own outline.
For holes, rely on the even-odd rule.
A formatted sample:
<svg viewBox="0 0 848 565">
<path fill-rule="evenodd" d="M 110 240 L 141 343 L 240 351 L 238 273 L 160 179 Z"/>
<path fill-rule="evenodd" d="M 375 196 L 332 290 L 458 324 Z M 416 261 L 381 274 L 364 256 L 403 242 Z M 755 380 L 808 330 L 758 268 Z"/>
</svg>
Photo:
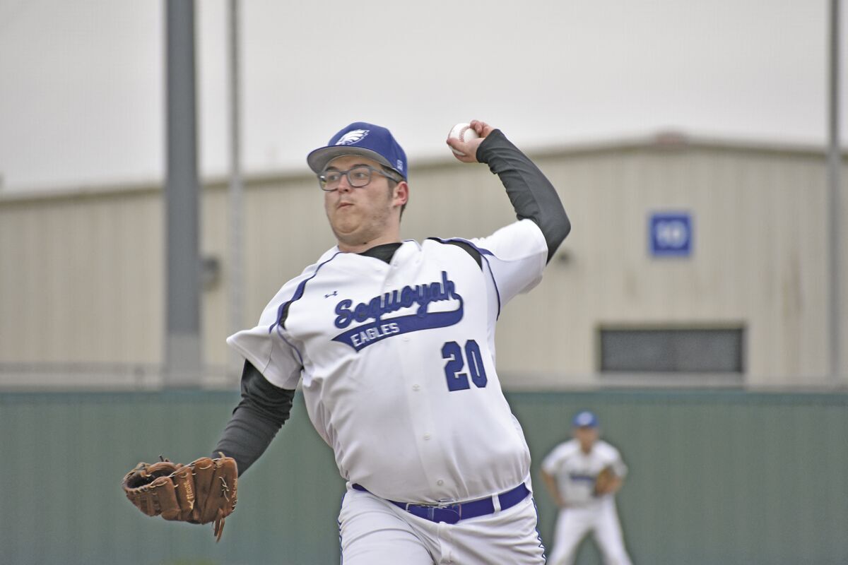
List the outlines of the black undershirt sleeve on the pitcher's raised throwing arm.
<svg viewBox="0 0 848 565">
<path fill-rule="evenodd" d="M 492 131 L 477 147 L 477 161 L 487 163 L 504 183 L 518 219 L 532 219 L 542 230 L 550 261 L 572 230 L 554 186 L 500 130 Z"/>
</svg>

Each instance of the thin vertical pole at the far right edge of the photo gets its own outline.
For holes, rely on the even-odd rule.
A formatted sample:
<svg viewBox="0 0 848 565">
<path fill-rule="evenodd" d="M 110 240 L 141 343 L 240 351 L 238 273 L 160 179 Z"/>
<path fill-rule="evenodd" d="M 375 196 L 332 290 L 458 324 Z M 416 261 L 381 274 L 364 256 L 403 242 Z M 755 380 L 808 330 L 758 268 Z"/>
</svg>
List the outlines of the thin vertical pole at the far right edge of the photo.
<svg viewBox="0 0 848 565">
<path fill-rule="evenodd" d="M 830 375 L 839 379 L 842 370 L 841 347 L 841 250 L 840 190 L 842 154 L 840 151 L 840 0 L 830 0 L 828 69 L 828 237 L 830 270 Z"/>
</svg>

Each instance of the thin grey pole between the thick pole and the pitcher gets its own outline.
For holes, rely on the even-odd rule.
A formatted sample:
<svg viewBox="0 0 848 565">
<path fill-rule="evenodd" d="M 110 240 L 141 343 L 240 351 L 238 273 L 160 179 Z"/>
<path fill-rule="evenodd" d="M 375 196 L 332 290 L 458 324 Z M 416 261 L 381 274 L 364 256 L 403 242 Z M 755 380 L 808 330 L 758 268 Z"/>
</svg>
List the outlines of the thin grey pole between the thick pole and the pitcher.
<svg viewBox="0 0 848 565">
<path fill-rule="evenodd" d="M 239 113 L 238 0 L 230 0 L 230 330 L 243 329 L 243 179 L 241 163 L 241 116 Z M 240 374 L 242 358 L 230 352 L 229 374 Z"/>
</svg>

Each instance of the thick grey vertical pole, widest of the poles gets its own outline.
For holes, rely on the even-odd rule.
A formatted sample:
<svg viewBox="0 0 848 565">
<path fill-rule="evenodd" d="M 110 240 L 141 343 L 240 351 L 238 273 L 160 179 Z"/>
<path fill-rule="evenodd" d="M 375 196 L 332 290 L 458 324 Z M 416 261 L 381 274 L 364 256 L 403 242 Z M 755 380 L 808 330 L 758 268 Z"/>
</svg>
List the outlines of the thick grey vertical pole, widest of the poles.
<svg viewBox="0 0 848 565">
<path fill-rule="evenodd" d="M 193 0 L 165 0 L 165 385 L 200 385 L 200 253 Z"/>
</svg>

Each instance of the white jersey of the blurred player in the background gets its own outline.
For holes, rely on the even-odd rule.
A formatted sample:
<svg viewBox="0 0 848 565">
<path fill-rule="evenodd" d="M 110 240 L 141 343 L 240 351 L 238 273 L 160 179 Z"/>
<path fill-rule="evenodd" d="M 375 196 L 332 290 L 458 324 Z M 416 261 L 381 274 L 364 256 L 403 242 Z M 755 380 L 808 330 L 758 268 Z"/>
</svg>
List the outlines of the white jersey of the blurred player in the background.
<svg viewBox="0 0 848 565">
<path fill-rule="evenodd" d="M 594 479 L 608 465 L 622 479 L 628 473 L 621 454 L 604 440 L 595 441 L 589 453 L 580 449 L 576 439 L 568 440 L 556 446 L 542 461 L 544 472 L 555 477 L 566 507 L 597 501 L 598 498 L 592 496 Z"/>
</svg>

